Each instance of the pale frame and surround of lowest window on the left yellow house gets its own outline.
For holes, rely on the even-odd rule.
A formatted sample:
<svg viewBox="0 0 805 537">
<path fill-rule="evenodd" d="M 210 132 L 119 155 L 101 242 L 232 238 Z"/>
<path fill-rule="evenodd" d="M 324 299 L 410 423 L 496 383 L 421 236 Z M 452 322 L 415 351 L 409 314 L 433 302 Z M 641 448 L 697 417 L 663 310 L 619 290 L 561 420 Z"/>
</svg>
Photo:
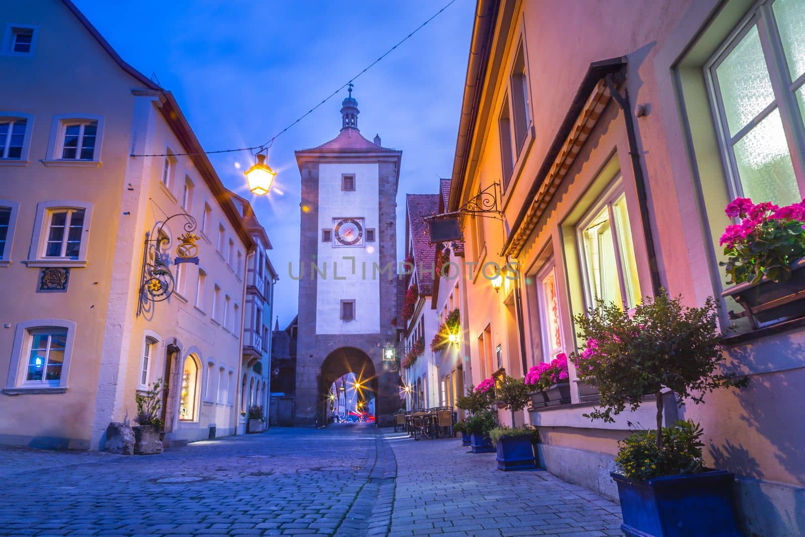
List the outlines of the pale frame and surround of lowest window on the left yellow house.
<svg viewBox="0 0 805 537">
<path fill-rule="evenodd" d="M 61 375 L 58 383 L 47 381 L 40 382 L 37 386 L 32 382 L 23 381 L 23 376 L 27 370 L 28 357 L 31 354 L 31 330 L 38 328 L 62 328 L 67 330 L 67 337 L 64 341 L 64 360 L 61 366 Z M 11 348 L 11 360 L 9 364 L 9 375 L 6 379 L 5 394 L 39 394 L 39 393 L 64 393 L 68 390 L 68 378 L 70 374 L 70 363 L 72 361 L 72 349 L 76 337 L 76 323 L 66 319 L 32 319 L 17 323 L 14 328 L 14 344 Z M 24 359 L 23 359 L 24 353 Z"/>
</svg>

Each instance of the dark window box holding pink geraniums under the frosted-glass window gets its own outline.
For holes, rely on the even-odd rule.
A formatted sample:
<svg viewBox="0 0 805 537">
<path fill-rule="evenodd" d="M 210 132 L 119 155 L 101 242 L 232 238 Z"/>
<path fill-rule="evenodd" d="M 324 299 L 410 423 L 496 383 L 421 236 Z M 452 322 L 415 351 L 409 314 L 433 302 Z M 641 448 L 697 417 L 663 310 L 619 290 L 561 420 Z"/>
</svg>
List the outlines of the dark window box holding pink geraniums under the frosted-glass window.
<svg viewBox="0 0 805 537">
<path fill-rule="evenodd" d="M 741 304 L 744 311 L 730 317 L 747 317 L 752 328 L 802 316 L 805 312 L 805 258 L 791 265 L 791 279 L 786 282 L 775 283 L 762 278 L 758 283 L 739 283 L 721 296 L 731 296 Z"/>
</svg>

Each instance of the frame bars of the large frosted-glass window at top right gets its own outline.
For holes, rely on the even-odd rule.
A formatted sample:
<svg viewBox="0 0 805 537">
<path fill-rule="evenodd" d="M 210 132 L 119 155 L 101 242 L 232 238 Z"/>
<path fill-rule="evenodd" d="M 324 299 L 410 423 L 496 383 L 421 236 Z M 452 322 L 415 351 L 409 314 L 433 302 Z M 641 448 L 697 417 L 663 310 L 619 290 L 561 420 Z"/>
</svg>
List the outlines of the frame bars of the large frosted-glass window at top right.
<svg viewBox="0 0 805 537">
<path fill-rule="evenodd" d="M 770 114 L 774 114 L 774 110 L 778 110 L 782 122 L 783 134 L 786 137 L 786 147 L 794 169 L 797 188 L 799 188 L 799 198 L 805 197 L 805 118 L 803 118 L 803 113 L 799 109 L 795 94 L 798 89 L 805 88 L 805 72 L 800 74 L 795 81 L 791 80 L 785 52 L 782 49 L 782 39 L 778 32 L 777 20 L 772 10 L 773 3 L 774 0 L 762 0 L 749 8 L 741 18 L 741 22 L 737 23 L 733 30 L 729 32 L 729 35 L 720 43 L 702 68 L 707 86 L 708 104 L 712 113 L 713 126 L 716 130 L 720 160 L 725 170 L 726 186 L 730 199 L 744 196 L 734 147 L 755 126 L 758 126 Z M 774 100 L 758 112 L 749 123 L 741 127 L 734 136 L 731 136 L 716 69 L 753 27 L 758 29 L 758 38 L 761 43 L 763 58 L 766 62 Z"/>
</svg>

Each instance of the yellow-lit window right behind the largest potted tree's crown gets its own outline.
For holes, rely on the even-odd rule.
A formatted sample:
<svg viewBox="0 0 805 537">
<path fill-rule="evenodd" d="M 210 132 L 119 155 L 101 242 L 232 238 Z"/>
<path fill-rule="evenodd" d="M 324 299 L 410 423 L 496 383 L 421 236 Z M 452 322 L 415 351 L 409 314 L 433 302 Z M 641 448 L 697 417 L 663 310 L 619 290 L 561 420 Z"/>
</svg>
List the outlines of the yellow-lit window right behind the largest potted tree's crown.
<svg viewBox="0 0 805 537">
<path fill-rule="evenodd" d="M 588 307 L 603 300 L 634 308 L 640 285 L 622 189 L 616 187 L 606 195 L 578 233 Z"/>
</svg>

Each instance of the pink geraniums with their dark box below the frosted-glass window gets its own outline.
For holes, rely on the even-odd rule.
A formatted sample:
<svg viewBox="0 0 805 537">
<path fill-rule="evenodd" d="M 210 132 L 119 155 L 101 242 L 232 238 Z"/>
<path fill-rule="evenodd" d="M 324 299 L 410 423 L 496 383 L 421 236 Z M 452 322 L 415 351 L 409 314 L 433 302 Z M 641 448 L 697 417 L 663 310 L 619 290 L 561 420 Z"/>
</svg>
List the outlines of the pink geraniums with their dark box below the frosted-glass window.
<svg viewBox="0 0 805 537">
<path fill-rule="evenodd" d="M 752 328 L 805 312 L 805 200 L 778 207 L 737 198 L 727 205 L 728 225 L 720 238 L 729 276 L 729 296 L 744 309 Z"/>
</svg>

